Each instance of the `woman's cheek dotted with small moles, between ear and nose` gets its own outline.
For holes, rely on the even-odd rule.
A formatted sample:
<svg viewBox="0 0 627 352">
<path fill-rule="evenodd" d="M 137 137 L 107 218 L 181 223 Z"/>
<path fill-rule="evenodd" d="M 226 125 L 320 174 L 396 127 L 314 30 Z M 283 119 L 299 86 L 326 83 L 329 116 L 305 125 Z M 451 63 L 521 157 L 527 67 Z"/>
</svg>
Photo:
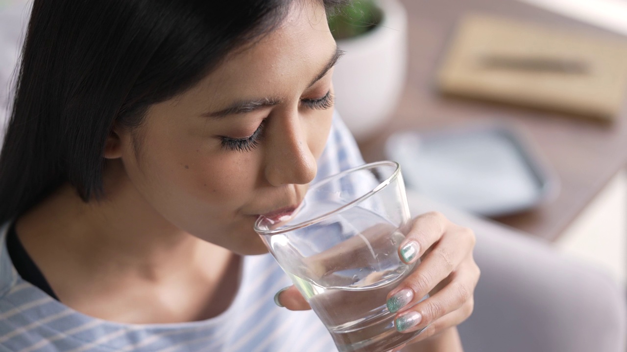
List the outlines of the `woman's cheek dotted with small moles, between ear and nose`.
<svg viewBox="0 0 627 352">
<path fill-rule="evenodd" d="M 150 205 L 191 233 L 228 226 L 250 202 L 258 175 L 255 153 L 223 152 L 207 140 L 146 135 L 142 160 L 127 168 Z M 125 158 L 133 160 L 134 155 Z"/>
</svg>

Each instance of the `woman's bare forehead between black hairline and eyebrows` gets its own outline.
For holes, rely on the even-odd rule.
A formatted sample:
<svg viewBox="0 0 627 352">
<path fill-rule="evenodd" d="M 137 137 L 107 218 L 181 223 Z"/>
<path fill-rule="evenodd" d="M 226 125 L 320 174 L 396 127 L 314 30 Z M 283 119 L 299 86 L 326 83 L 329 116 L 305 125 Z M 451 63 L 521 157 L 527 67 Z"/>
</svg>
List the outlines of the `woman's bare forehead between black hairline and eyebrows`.
<svg viewBox="0 0 627 352">
<path fill-rule="evenodd" d="M 321 1 L 293 1 L 283 23 L 235 51 L 188 93 L 211 98 L 283 98 L 304 90 L 335 51 Z"/>
</svg>

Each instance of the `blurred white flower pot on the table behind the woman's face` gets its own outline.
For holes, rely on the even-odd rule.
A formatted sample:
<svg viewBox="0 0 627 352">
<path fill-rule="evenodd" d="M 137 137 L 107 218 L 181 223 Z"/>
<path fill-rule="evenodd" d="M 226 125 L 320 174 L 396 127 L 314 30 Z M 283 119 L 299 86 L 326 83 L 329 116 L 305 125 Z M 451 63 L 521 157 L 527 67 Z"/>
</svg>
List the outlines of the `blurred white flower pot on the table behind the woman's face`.
<svg viewBox="0 0 627 352">
<path fill-rule="evenodd" d="M 382 21 L 356 38 L 335 66 L 335 106 L 357 140 L 371 137 L 393 113 L 407 73 L 407 14 L 398 0 L 379 0 Z"/>
</svg>

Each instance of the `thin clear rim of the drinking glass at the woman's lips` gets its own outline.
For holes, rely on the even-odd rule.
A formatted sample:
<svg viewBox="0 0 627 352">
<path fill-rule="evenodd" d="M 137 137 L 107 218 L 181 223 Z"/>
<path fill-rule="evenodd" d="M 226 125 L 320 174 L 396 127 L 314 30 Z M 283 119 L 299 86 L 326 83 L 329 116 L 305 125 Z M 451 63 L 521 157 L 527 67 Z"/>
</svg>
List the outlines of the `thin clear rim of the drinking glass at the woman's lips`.
<svg viewBox="0 0 627 352">
<path fill-rule="evenodd" d="M 379 193 L 382 189 L 384 189 L 387 185 L 391 184 L 393 182 L 393 180 L 396 180 L 398 178 L 398 175 L 401 173 L 401 165 L 398 162 L 394 162 L 391 160 L 383 160 L 383 161 L 379 161 L 379 162 L 372 162 L 372 163 L 366 163 L 364 165 L 360 165 L 357 167 L 353 167 L 353 168 L 349 168 L 348 170 L 344 170 L 340 173 L 335 173 L 335 175 L 330 175 L 328 177 L 325 177 L 324 179 L 320 180 L 319 182 L 316 182 L 315 184 L 312 185 L 312 187 L 310 187 L 310 189 L 307 190 L 307 192 L 310 192 L 311 190 L 316 189 L 317 187 L 320 187 L 322 185 L 328 184 L 329 182 L 331 182 L 332 180 L 336 180 L 336 179 L 341 179 L 342 177 L 344 177 L 345 175 L 347 175 L 348 173 L 352 173 L 352 172 L 356 172 L 356 171 L 360 171 L 360 170 L 365 170 L 365 169 L 369 169 L 369 168 L 376 168 L 376 167 L 381 167 L 381 166 L 393 166 L 394 167 L 394 171 L 382 182 L 379 182 L 379 184 L 374 187 L 372 190 L 369 190 L 366 194 L 361 195 L 360 197 L 357 197 L 354 200 L 351 200 L 350 202 L 347 202 L 346 204 L 337 207 L 334 210 L 331 210 L 330 212 L 325 212 L 324 214 L 318 215 L 317 217 L 314 217 L 313 219 L 309 219 L 309 220 L 305 220 L 303 222 L 299 222 L 298 224 L 294 224 L 294 225 L 289 225 L 289 226 L 285 226 L 285 227 L 279 227 L 278 229 L 273 229 L 273 230 L 260 230 L 259 229 L 259 224 L 260 222 L 264 219 L 263 216 L 260 216 L 257 220 L 255 220 L 255 232 L 257 232 L 260 236 L 268 236 L 268 235 L 277 235 L 277 234 L 284 234 L 285 232 L 290 232 L 293 230 L 298 230 L 298 229 L 302 229 L 303 227 L 307 227 L 310 225 L 314 225 L 317 224 L 321 221 L 324 221 L 325 219 L 328 219 L 330 216 L 334 215 L 334 214 L 338 214 L 340 212 L 343 212 L 344 210 L 350 209 L 354 206 L 356 206 L 357 204 L 360 204 L 361 202 L 363 202 L 366 199 L 369 199 L 370 197 L 372 197 L 372 195 L 375 195 L 377 193 Z M 307 196 L 305 195 L 305 198 Z M 304 202 L 304 199 L 303 199 Z"/>
</svg>

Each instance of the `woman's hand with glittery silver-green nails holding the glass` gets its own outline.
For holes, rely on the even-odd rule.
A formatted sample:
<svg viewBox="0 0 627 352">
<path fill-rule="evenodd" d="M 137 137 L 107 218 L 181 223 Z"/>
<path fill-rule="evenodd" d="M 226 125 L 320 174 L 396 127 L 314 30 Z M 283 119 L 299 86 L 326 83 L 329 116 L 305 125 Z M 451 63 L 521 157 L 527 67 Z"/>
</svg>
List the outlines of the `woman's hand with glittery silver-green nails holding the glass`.
<svg viewBox="0 0 627 352">
<path fill-rule="evenodd" d="M 447 331 L 472 313 L 480 276 L 474 247 L 472 230 L 453 224 L 440 213 L 424 214 L 411 222 L 398 254 L 408 264 L 419 258 L 422 262 L 387 296 L 398 331 L 411 333 L 428 326 L 411 343 Z M 418 303 L 426 294 L 429 298 Z M 293 286 L 278 292 L 275 301 L 292 310 L 310 309 Z"/>
</svg>

